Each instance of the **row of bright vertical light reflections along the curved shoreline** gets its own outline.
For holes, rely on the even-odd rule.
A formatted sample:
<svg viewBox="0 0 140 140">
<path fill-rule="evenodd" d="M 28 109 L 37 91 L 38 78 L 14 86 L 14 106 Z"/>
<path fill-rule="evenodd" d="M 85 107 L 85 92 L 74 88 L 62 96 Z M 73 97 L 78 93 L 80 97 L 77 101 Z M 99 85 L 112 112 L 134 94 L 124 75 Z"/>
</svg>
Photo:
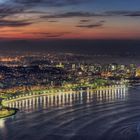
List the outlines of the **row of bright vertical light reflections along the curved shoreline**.
<svg viewBox="0 0 140 140">
<path fill-rule="evenodd" d="M 70 91 L 45 96 L 33 97 L 8 103 L 8 107 L 34 110 L 40 106 L 44 108 L 73 105 L 74 103 L 110 102 L 125 99 L 127 89 L 125 86 L 99 90 Z"/>
</svg>

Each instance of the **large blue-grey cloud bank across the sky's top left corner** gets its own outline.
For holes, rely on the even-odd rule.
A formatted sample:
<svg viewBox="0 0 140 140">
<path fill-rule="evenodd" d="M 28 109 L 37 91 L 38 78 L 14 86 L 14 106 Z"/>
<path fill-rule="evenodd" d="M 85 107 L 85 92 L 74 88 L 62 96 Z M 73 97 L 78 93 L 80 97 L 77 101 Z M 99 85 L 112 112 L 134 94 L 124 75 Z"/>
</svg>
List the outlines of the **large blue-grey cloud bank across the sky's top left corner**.
<svg viewBox="0 0 140 140">
<path fill-rule="evenodd" d="M 0 3 L 0 18 L 4 18 L 16 14 L 35 14 L 42 15 L 46 12 L 36 10 L 37 7 L 51 7 L 51 6 L 69 6 L 81 3 L 87 3 L 92 0 L 7 0 Z"/>
</svg>

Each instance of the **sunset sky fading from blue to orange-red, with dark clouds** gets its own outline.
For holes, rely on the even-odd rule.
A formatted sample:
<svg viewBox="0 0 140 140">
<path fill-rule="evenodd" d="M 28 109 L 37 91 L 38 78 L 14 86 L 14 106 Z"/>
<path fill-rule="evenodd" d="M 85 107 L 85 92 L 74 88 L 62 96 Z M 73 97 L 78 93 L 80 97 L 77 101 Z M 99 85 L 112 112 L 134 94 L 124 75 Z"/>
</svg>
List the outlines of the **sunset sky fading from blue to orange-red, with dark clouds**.
<svg viewBox="0 0 140 140">
<path fill-rule="evenodd" d="M 0 40 L 140 39 L 140 0 L 0 0 Z"/>
</svg>

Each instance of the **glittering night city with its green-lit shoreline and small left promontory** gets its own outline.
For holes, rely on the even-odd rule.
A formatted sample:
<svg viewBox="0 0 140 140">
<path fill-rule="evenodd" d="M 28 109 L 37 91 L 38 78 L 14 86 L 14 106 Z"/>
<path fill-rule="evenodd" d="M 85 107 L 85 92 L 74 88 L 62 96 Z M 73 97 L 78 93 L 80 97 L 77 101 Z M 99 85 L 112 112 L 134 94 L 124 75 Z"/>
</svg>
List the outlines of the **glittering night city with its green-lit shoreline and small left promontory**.
<svg viewBox="0 0 140 140">
<path fill-rule="evenodd" d="M 55 91 L 97 90 L 115 85 L 139 85 L 136 64 L 92 63 L 90 55 L 34 54 L 0 57 L 0 98 L 7 100 Z M 3 101 L 4 101 L 3 100 Z M 2 116 L 17 109 L 0 107 Z"/>
</svg>

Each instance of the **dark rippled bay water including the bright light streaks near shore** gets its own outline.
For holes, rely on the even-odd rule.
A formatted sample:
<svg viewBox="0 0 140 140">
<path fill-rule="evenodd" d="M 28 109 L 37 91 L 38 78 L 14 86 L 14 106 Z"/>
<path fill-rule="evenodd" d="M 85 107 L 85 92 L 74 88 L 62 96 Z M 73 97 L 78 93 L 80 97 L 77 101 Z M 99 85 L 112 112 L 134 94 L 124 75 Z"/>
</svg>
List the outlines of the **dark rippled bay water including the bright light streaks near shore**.
<svg viewBox="0 0 140 140">
<path fill-rule="evenodd" d="M 9 103 L 2 140 L 138 140 L 140 88 L 59 93 Z"/>
</svg>

